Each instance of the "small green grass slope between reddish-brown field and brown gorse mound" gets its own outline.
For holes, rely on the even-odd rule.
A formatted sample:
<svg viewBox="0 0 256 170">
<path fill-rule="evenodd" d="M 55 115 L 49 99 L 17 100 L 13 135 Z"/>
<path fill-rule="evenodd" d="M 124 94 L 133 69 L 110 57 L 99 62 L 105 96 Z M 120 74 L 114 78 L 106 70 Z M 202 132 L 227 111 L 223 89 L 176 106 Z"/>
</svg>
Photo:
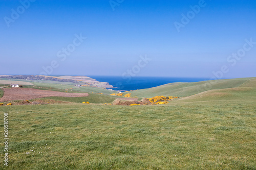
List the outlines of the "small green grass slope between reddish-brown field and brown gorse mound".
<svg viewBox="0 0 256 170">
<path fill-rule="evenodd" d="M 57 101 L 66 101 L 66 102 L 73 102 L 73 103 L 89 102 L 89 103 L 102 104 L 102 103 L 112 103 L 114 100 L 116 100 L 116 97 L 112 95 L 90 93 L 89 96 L 86 96 L 86 97 L 67 98 L 67 97 L 53 96 L 45 99 L 53 99 Z"/>
</svg>

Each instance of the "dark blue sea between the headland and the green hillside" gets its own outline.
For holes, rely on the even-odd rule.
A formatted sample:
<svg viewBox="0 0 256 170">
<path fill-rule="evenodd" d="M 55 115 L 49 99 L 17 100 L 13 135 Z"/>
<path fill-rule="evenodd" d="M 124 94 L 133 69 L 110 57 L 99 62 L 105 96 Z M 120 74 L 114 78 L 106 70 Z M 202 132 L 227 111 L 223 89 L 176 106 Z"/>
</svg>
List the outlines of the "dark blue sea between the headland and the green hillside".
<svg viewBox="0 0 256 170">
<path fill-rule="evenodd" d="M 143 88 L 151 88 L 160 86 L 167 83 L 175 82 L 199 82 L 205 81 L 206 78 L 171 78 L 171 77 L 133 77 L 124 79 L 122 77 L 115 76 L 88 76 L 90 78 L 96 79 L 100 82 L 108 82 L 116 88 L 113 90 L 128 91 L 137 90 Z"/>
</svg>

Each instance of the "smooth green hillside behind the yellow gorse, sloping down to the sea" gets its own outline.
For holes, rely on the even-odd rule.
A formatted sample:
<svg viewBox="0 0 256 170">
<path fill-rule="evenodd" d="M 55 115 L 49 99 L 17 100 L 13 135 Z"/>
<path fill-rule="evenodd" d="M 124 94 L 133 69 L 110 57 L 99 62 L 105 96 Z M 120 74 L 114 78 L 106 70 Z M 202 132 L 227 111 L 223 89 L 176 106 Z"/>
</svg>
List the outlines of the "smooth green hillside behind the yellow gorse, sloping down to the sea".
<svg viewBox="0 0 256 170">
<path fill-rule="evenodd" d="M 149 89 L 132 91 L 132 96 L 151 98 L 156 95 L 190 96 L 212 89 L 225 89 L 246 85 L 248 81 L 255 82 L 256 78 L 213 80 L 195 83 L 170 83 Z M 253 84 L 253 83 L 252 83 Z M 210 86 L 209 86 L 210 85 Z"/>
</svg>

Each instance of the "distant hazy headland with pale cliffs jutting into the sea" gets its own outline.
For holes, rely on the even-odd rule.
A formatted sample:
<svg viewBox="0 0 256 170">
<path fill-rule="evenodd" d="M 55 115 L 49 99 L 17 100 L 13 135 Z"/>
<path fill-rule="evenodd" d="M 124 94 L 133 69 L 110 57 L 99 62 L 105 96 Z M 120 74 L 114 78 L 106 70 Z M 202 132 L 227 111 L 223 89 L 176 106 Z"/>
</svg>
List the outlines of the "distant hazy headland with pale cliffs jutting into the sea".
<svg viewBox="0 0 256 170">
<path fill-rule="evenodd" d="M 51 81 L 58 81 L 58 82 L 71 82 L 71 83 L 78 83 L 83 84 L 87 86 L 93 86 L 93 87 L 103 87 L 103 88 L 113 88 L 112 85 L 110 85 L 107 82 L 98 82 L 95 79 L 92 79 L 87 76 L 25 76 L 25 75 L 19 75 L 19 76 L 0 76 L 1 78 L 6 79 L 24 79 L 24 80 L 51 80 Z"/>
</svg>

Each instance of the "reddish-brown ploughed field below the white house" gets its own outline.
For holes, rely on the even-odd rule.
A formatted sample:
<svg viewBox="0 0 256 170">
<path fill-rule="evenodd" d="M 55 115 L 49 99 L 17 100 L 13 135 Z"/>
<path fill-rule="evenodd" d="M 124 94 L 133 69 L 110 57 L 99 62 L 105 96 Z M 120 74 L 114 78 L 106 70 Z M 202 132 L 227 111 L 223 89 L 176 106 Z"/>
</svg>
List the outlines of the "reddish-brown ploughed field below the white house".
<svg viewBox="0 0 256 170">
<path fill-rule="evenodd" d="M 46 98 L 50 96 L 61 97 L 83 97 L 88 96 L 88 93 L 67 93 L 50 90 L 39 90 L 34 88 L 4 88 L 4 96 L 0 102 L 14 101 L 14 100 L 31 100 L 37 98 Z"/>
</svg>

